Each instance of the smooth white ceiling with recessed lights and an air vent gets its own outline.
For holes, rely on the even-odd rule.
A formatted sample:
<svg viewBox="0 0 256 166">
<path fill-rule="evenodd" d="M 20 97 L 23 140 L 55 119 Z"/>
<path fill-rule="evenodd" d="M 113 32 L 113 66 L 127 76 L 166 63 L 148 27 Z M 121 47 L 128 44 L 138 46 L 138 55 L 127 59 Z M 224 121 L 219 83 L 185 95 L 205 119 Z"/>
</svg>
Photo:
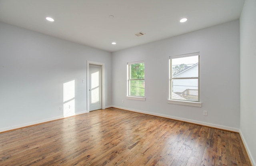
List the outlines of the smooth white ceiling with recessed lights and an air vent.
<svg viewBox="0 0 256 166">
<path fill-rule="evenodd" d="M 243 5 L 244 0 L 0 0 L 0 22 L 113 52 L 239 19 Z M 180 23 L 184 17 L 188 21 Z"/>
</svg>

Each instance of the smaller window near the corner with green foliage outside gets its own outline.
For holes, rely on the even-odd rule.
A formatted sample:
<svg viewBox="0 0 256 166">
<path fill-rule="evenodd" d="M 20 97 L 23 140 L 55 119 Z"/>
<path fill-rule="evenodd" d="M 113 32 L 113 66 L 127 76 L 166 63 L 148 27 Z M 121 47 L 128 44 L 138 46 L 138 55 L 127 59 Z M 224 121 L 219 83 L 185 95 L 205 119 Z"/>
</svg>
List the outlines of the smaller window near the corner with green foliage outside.
<svg viewBox="0 0 256 166">
<path fill-rule="evenodd" d="M 144 97 L 144 61 L 127 63 L 127 96 Z"/>
</svg>

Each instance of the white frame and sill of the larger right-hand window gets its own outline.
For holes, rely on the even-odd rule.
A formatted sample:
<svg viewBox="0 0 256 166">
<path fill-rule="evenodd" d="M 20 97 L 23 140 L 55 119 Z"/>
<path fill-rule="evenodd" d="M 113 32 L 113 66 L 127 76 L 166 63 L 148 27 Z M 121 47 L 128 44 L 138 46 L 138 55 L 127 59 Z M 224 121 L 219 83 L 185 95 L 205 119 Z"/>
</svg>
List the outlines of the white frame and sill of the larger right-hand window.
<svg viewBox="0 0 256 166">
<path fill-rule="evenodd" d="M 172 77 L 172 59 L 182 58 L 182 57 L 192 57 L 198 56 L 198 77 Z M 172 99 L 172 83 L 173 80 L 186 80 L 186 79 L 197 79 L 198 80 L 198 100 L 182 100 L 182 99 Z M 196 107 L 202 107 L 202 103 L 200 102 L 200 52 L 195 53 L 187 53 L 182 55 L 174 55 L 169 57 L 169 97 L 168 103 L 180 104 L 180 105 L 190 105 Z"/>
</svg>

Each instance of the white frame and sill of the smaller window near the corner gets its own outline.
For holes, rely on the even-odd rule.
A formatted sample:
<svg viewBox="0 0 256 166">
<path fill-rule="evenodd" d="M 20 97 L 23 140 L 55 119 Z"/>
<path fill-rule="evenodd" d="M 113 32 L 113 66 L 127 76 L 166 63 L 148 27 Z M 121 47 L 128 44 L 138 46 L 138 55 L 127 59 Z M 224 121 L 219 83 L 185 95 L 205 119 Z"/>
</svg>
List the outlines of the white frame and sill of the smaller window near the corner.
<svg viewBox="0 0 256 166">
<path fill-rule="evenodd" d="M 137 64 L 137 63 L 144 63 L 144 61 L 134 61 L 134 62 L 129 62 L 127 63 L 127 95 L 126 99 L 133 99 L 133 100 L 141 100 L 145 101 L 145 90 L 144 90 L 144 96 L 132 96 L 130 95 L 130 81 L 132 80 L 143 80 L 145 83 L 145 68 L 144 68 L 144 79 L 131 79 L 131 65 L 132 64 Z M 145 63 L 144 63 L 145 66 Z"/>
</svg>

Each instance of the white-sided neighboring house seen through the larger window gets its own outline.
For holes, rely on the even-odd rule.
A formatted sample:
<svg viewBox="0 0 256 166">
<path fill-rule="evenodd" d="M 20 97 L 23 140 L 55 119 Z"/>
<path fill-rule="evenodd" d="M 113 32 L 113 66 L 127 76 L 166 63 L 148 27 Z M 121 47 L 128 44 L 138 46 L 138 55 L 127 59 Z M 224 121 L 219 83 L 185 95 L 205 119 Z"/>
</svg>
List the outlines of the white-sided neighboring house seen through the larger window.
<svg viewBox="0 0 256 166">
<path fill-rule="evenodd" d="M 198 63 L 186 67 L 180 73 L 173 76 L 179 77 L 198 77 Z M 172 82 L 172 92 L 185 97 L 186 99 L 193 99 L 193 96 L 198 96 L 198 79 L 174 79 Z M 187 97 L 190 94 L 189 98 Z"/>
</svg>

